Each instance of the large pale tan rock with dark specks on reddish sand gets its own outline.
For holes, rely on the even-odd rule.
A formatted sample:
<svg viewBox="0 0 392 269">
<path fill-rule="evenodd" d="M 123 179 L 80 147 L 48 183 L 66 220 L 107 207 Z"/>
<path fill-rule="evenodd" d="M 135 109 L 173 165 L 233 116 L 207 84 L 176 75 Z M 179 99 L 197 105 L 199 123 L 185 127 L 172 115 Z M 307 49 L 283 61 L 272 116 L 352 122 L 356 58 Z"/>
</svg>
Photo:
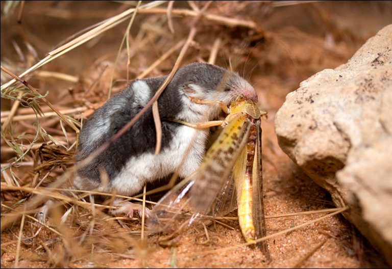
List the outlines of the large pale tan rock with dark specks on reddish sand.
<svg viewBox="0 0 392 269">
<path fill-rule="evenodd" d="M 392 24 L 348 63 L 286 96 L 275 131 L 283 151 L 331 193 L 392 265 Z"/>
</svg>

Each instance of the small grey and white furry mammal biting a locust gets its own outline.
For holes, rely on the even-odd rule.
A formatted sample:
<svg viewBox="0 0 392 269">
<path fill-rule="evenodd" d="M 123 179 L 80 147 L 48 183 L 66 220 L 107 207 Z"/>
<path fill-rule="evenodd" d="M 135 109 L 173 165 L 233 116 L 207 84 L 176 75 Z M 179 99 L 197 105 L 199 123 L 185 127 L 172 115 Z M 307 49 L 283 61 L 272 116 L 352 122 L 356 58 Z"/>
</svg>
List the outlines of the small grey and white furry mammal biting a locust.
<svg viewBox="0 0 392 269">
<path fill-rule="evenodd" d="M 166 77 L 133 80 L 128 88 L 97 109 L 81 130 L 77 158 L 87 157 L 127 124 L 153 97 Z M 224 77 L 227 79 L 222 80 Z M 158 98 L 162 122 L 160 153 L 154 154 L 156 131 L 150 108 L 106 151 L 78 171 L 74 180 L 76 187 L 103 192 L 116 190 L 117 194 L 132 196 L 140 192 L 146 182 L 175 172 L 184 157 L 186 160 L 179 175 L 188 176 L 202 162 L 208 129 L 195 129 L 168 119 L 189 123 L 211 121 L 218 116 L 219 105 L 197 104 L 189 97 L 229 104 L 240 94 L 257 102 L 254 88 L 236 72 L 205 63 L 180 68 Z M 194 143 L 185 156 L 192 141 Z M 101 184 L 100 169 L 108 175 L 106 185 Z"/>
</svg>

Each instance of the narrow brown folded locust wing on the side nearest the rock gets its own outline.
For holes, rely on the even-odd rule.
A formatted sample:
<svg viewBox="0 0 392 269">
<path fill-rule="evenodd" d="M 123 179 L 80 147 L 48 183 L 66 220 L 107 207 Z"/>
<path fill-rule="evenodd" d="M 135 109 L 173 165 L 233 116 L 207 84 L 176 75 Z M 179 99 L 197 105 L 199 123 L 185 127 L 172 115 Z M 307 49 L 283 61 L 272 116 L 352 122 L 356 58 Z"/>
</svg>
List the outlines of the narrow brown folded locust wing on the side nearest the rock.
<svg viewBox="0 0 392 269">
<path fill-rule="evenodd" d="M 261 162 L 261 127 L 260 120 L 256 123 L 257 140 L 255 148 L 255 158 L 253 161 L 253 223 L 255 225 L 256 238 L 266 236 L 264 202 L 263 202 L 263 170 Z M 263 252 L 267 260 L 271 260 L 266 241 L 257 243 L 257 247 Z"/>
</svg>

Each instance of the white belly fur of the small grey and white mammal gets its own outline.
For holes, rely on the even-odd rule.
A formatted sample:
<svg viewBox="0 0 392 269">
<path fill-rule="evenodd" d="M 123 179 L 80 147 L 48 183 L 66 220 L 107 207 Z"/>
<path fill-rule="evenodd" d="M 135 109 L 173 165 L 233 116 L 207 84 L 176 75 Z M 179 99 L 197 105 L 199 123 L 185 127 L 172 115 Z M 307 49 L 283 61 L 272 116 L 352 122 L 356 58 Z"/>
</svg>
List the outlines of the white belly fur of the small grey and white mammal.
<svg viewBox="0 0 392 269">
<path fill-rule="evenodd" d="M 186 177 L 196 170 L 203 159 L 208 129 L 198 130 L 188 126 L 180 126 L 170 146 L 158 155 L 144 153 L 128 160 L 121 172 L 111 181 L 111 190 L 117 190 L 120 195 L 138 193 L 146 182 L 152 182 L 175 172 L 186 156 L 188 147 L 192 144 L 179 175 Z M 106 188 L 105 188 L 106 189 Z"/>
</svg>

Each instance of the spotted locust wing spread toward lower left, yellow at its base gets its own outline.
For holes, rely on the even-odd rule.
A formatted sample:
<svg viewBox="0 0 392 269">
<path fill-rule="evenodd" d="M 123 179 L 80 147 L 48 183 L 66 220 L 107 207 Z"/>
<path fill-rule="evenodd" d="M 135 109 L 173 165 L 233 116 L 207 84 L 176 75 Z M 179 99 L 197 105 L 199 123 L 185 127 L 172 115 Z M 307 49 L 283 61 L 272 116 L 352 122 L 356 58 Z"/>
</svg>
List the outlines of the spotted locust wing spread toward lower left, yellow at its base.
<svg viewBox="0 0 392 269">
<path fill-rule="evenodd" d="M 210 212 L 224 190 L 238 154 L 246 144 L 250 124 L 238 114 L 211 145 L 199 169 L 171 189 L 154 207 L 148 226 L 156 232 L 174 231 Z M 230 188 L 230 187 L 229 187 Z"/>
</svg>

